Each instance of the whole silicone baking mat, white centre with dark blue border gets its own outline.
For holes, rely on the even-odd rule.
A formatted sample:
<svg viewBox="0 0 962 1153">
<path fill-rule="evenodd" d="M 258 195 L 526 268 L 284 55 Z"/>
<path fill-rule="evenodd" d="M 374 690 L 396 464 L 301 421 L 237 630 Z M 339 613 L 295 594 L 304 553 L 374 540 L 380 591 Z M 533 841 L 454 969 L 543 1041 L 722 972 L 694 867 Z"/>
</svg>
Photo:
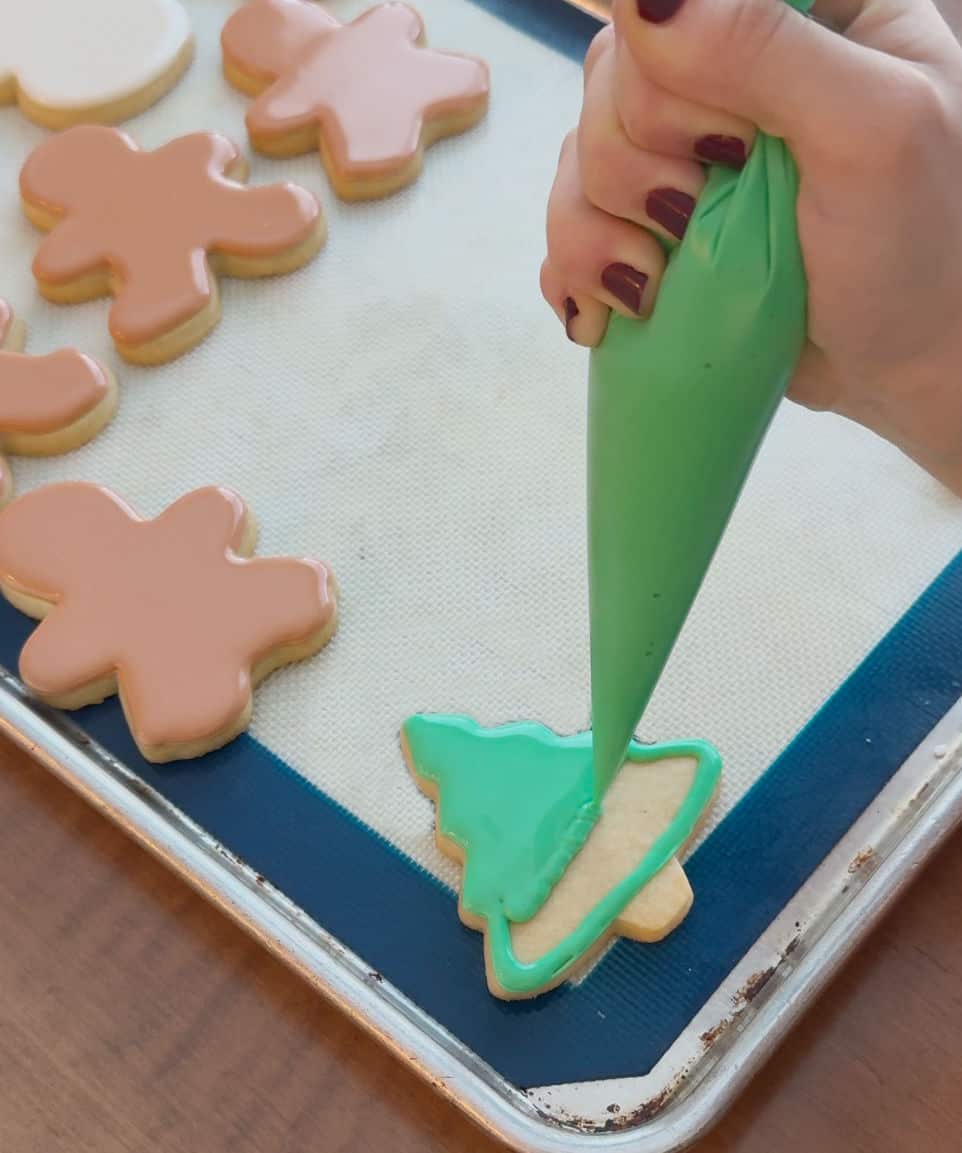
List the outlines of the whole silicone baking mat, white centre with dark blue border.
<svg viewBox="0 0 962 1153">
<path fill-rule="evenodd" d="M 200 128 L 245 138 L 218 47 L 234 5 L 188 7 L 193 67 L 127 126 L 146 146 Z M 694 909 L 660 945 L 618 943 L 577 986 L 493 1000 L 397 734 L 419 710 L 562 732 L 589 719 L 586 357 L 538 270 L 599 25 L 556 0 L 419 8 L 434 45 L 490 62 L 487 120 L 375 204 L 338 204 L 314 156 L 254 157 L 253 182 L 321 196 L 326 248 L 293 276 L 225 280 L 201 347 L 118 366 L 113 424 L 68 457 L 16 460 L 16 487 L 96 481 L 155 514 L 227 484 L 263 555 L 329 560 L 338 636 L 258 691 L 250 736 L 157 768 L 115 701 L 81 725 L 513 1085 L 640 1076 L 962 692 L 962 503 L 870 434 L 782 407 L 640 731 L 705 737 L 724 756 L 687 862 Z M 55 308 L 31 281 L 37 235 L 15 190 L 43 136 L 0 113 L 0 294 L 30 349 L 75 344 L 114 363 L 105 302 Z M 7 668 L 29 628 L 0 610 Z"/>
</svg>

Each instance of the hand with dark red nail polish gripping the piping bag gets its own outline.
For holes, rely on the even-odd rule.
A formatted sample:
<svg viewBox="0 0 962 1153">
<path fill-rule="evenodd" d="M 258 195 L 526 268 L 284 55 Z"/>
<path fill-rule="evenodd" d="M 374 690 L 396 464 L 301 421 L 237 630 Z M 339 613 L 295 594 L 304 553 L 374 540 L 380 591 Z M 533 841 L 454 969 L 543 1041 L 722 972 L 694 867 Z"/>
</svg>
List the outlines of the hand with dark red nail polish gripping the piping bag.
<svg viewBox="0 0 962 1153">
<path fill-rule="evenodd" d="M 962 48 L 931 0 L 615 0 L 548 209 L 542 291 L 579 344 L 656 307 L 664 254 L 756 126 L 801 173 L 809 342 L 789 395 L 962 495 Z M 833 29 L 837 29 L 833 30 Z"/>
</svg>

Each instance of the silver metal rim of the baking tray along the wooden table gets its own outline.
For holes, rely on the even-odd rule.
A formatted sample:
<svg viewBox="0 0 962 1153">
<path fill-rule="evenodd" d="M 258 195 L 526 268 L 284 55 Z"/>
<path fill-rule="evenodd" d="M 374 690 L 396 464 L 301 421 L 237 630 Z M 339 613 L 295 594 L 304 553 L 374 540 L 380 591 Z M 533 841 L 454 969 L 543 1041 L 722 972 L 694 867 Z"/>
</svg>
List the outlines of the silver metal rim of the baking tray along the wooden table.
<svg viewBox="0 0 962 1153">
<path fill-rule="evenodd" d="M 957 725 L 962 702 L 937 728 Z M 669 1153 L 699 1137 L 746 1085 L 791 1024 L 911 883 L 929 856 L 962 821 L 962 745 L 942 758 L 938 779 L 919 798 L 910 826 L 875 867 L 855 881 L 844 906 L 775 973 L 744 1027 L 732 1030 L 711 1068 L 663 1113 L 612 1121 L 617 1131 L 584 1133 L 536 1108 L 361 958 L 281 892 L 91 741 L 69 719 L 32 701 L 0 670 L 0 731 L 51 769 L 104 815 L 173 868 L 318 992 L 373 1033 L 419 1076 L 482 1128 L 531 1153 L 630 1150 Z M 908 763 L 908 762 L 907 762 Z M 789 972 L 790 970 L 790 972 Z M 788 980 L 788 977 L 791 980 Z M 724 1067 L 724 1076 L 719 1070 Z M 684 1108 L 682 1108 L 684 1102 Z"/>
</svg>

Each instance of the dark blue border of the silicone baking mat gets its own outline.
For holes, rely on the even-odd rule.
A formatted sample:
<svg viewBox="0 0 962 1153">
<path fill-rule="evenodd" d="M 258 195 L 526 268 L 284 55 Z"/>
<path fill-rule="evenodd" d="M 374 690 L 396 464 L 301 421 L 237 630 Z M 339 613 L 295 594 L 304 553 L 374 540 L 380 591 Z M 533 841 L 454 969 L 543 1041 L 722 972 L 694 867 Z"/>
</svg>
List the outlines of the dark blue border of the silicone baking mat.
<svg viewBox="0 0 962 1153">
<path fill-rule="evenodd" d="M 596 23 L 558 0 L 474 0 L 580 58 Z M 0 604 L 0 662 L 32 621 Z M 797 655 L 786 657 L 786 676 Z M 647 1072 L 911 751 L 962 695 L 962 553 L 686 864 L 666 941 L 619 941 L 577 987 L 504 1003 L 454 897 L 251 737 L 153 766 L 117 699 L 80 724 L 143 781 L 516 1085 Z M 758 707 L 758 706 L 757 706 Z M 403 718 L 398 717 L 398 723 Z M 398 773 L 404 773 L 398 751 Z"/>
</svg>

